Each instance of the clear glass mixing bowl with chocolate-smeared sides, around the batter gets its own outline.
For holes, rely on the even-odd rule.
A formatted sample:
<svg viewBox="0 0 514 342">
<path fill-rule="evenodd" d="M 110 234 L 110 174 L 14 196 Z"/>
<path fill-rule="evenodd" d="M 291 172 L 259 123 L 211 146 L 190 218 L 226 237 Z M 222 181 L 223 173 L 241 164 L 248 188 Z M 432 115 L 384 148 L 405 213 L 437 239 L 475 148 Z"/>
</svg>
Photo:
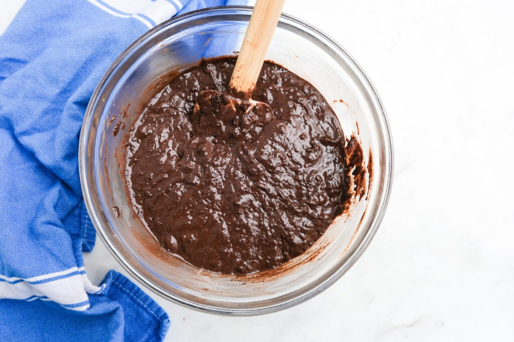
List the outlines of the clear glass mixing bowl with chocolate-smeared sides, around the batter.
<svg viewBox="0 0 514 342">
<path fill-rule="evenodd" d="M 393 170 L 386 113 L 368 77 L 333 39 L 297 18 L 282 15 L 267 59 L 313 84 L 333 105 L 345 135 L 354 134 L 360 140 L 366 163 L 370 156 L 373 159 L 368 193 L 350 212 L 336 218 L 304 254 L 270 271 L 246 276 L 216 274 L 195 268 L 160 247 L 134 214 L 125 195 L 123 168 L 116 159 L 120 140 L 138 112 L 137 106 L 127 105 L 148 95 L 144 90 L 150 85 L 159 86 L 163 74 L 183 70 L 202 57 L 234 54 L 251 11 L 250 7 L 200 10 L 173 18 L 137 39 L 107 70 L 91 97 L 79 147 L 89 216 L 121 265 L 164 298 L 227 315 L 278 311 L 333 284 L 375 234 L 386 210 Z M 114 135 L 116 125 L 120 132 Z"/>
</svg>

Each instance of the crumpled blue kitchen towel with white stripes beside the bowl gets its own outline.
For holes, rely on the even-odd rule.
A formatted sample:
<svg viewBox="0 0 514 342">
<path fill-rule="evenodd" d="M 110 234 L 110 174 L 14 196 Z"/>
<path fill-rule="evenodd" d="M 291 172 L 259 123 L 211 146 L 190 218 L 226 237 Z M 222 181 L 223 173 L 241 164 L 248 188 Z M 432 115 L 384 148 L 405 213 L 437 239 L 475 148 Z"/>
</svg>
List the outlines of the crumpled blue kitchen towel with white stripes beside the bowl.
<svg viewBox="0 0 514 342">
<path fill-rule="evenodd" d="M 84 112 L 114 59 L 183 12 L 246 1 L 28 0 L 0 36 L 0 340 L 161 340 L 168 315 L 121 274 L 88 280 Z"/>
</svg>

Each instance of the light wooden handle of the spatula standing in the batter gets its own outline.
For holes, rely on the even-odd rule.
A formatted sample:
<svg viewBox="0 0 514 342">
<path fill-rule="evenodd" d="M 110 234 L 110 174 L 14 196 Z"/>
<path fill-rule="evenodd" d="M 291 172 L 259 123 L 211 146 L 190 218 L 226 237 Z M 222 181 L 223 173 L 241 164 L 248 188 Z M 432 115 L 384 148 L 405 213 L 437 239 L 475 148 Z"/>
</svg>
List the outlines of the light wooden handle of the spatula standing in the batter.
<svg viewBox="0 0 514 342">
<path fill-rule="evenodd" d="M 256 1 L 230 79 L 229 87 L 236 94 L 245 98 L 251 97 L 284 3 L 285 0 Z"/>
</svg>

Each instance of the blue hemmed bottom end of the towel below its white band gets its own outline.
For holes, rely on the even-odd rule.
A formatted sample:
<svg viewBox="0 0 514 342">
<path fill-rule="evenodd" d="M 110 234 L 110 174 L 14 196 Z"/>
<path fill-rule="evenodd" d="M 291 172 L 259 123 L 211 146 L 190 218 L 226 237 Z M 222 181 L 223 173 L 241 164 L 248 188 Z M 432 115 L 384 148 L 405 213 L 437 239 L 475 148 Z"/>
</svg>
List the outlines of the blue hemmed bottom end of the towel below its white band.
<svg viewBox="0 0 514 342">
<path fill-rule="evenodd" d="M 110 271 L 97 294 L 59 306 L 45 296 L 0 300 L 2 341 L 159 341 L 170 326 L 168 314 L 120 273 Z M 70 310 L 71 309 L 71 310 Z"/>
</svg>

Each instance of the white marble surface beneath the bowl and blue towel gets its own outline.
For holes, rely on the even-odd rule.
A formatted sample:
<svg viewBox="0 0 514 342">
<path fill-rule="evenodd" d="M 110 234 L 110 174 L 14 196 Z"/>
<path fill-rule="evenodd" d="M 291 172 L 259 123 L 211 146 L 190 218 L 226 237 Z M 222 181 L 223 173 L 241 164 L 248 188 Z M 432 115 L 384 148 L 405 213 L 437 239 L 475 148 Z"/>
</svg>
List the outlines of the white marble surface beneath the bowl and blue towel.
<svg viewBox="0 0 514 342">
<path fill-rule="evenodd" d="M 21 3 L 3 2 L 0 31 Z M 167 339 L 514 340 L 514 2 L 312 4 L 285 12 L 350 51 L 389 114 L 386 217 L 357 264 L 295 308 L 219 317 L 150 293 L 170 315 Z M 100 240 L 85 263 L 94 283 L 126 274 Z"/>
</svg>

